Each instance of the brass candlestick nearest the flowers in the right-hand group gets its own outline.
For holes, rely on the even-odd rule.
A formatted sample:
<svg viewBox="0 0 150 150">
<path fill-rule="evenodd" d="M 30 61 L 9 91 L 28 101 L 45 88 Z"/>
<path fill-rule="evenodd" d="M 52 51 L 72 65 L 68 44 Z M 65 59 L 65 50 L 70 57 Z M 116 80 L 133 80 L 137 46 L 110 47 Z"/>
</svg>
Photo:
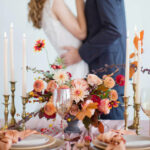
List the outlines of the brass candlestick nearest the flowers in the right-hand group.
<svg viewBox="0 0 150 150">
<path fill-rule="evenodd" d="M 123 97 L 124 99 L 124 107 L 125 107 L 125 110 L 124 110 L 124 120 L 125 120 L 125 126 L 124 126 L 124 129 L 125 130 L 128 130 L 128 102 L 129 102 L 129 97 Z"/>
</svg>

